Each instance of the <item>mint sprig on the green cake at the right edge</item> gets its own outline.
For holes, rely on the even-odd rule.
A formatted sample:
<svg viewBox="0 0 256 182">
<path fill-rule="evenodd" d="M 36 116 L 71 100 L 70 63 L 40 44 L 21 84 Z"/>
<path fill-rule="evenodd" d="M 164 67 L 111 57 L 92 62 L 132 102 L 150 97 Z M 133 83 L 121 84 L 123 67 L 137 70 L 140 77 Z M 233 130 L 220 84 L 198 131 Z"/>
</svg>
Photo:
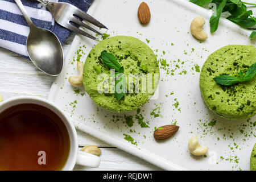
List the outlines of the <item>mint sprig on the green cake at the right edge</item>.
<svg viewBox="0 0 256 182">
<path fill-rule="evenodd" d="M 256 63 L 252 64 L 245 75 L 243 75 L 242 71 L 239 73 L 239 77 L 230 76 L 230 75 L 221 75 L 214 77 L 213 80 L 221 85 L 233 85 L 241 82 L 250 81 L 256 75 Z"/>
</svg>

